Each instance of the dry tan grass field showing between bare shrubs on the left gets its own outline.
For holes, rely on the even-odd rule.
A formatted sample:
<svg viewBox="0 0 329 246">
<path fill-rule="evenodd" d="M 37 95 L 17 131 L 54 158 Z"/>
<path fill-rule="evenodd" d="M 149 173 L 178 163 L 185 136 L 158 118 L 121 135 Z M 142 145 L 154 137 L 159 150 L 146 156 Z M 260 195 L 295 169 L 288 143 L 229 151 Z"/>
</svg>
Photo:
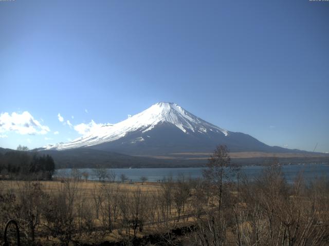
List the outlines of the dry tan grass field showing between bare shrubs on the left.
<svg viewBox="0 0 329 246">
<path fill-rule="evenodd" d="M 21 181 L 21 180 L 0 180 L 0 187 L 1 191 L 3 193 L 13 193 L 13 194 L 18 194 L 21 192 L 24 187 L 26 187 L 28 182 L 35 183 L 36 181 Z M 117 189 L 119 187 L 119 196 L 120 194 L 123 193 L 128 193 L 129 197 L 133 197 L 133 193 L 136 190 L 140 190 L 146 197 L 150 197 L 153 193 L 160 192 L 161 188 L 161 183 L 156 183 L 156 182 L 100 182 L 100 181 L 90 181 L 90 180 L 81 180 L 81 181 L 72 181 L 72 180 L 66 180 L 66 181 L 60 181 L 60 180 L 53 180 L 53 181 L 38 181 L 42 185 L 42 189 L 45 193 L 47 194 L 58 194 L 60 192 L 63 192 L 65 189 L 65 186 L 67 183 L 69 183 L 70 187 L 76 186 L 77 189 L 75 191 L 76 194 L 79 194 L 77 196 L 82 196 L 83 197 L 83 203 L 90 204 L 90 211 L 87 211 L 90 213 L 93 217 L 93 223 L 95 227 L 95 233 L 92 233 L 92 236 L 88 235 L 85 237 L 80 238 L 80 242 L 83 243 L 101 243 L 103 241 L 121 241 L 122 240 L 122 230 L 120 229 L 121 224 L 120 222 L 114 222 L 113 227 L 114 230 L 112 230 L 111 233 L 109 232 L 103 232 L 99 233 L 97 228 L 101 228 L 101 215 L 99 219 L 96 219 L 95 215 L 95 208 L 94 208 L 94 203 L 95 203 L 95 198 L 94 198 L 94 193 L 95 190 L 97 189 L 102 189 L 103 186 L 108 187 L 113 187 L 113 189 Z M 80 200 L 76 201 L 76 203 L 79 203 Z M 193 218 L 190 216 L 186 219 L 184 219 L 184 215 L 181 217 L 182 219 L 179 222 L 176 222 L 175 219 L 177 218 L 177 211 L 173 207 L 171 209 L 171 219 L 168 221 L 171 223 L 171 227 L 183 227 L 186 225 L 190 225 L 193 223 Z M 120 216 L 118 217 L 118 221 L 120 220 Z M 42 221 L 41 221 L 42 222 Z M 155 228 L 154 224 L 147 223 L 144 225 L 143 231 L 142 232 L 137 232 L 137 237 L 142 237 L 154 233 L 159 233 L 159 230 L 161 230 L 160 226 L 159 228 Z M 123 233 L 124 237 L 127 237 L 126 232 Z M 130 236 L 133 237 L 133 231 L 131 231 Z M 60 241 L 57 238 L 53 238 L 51 236 L 48 237 L 50 241 L 54 243 L 60 243 Z M 41 238 L 42 243 L 45 245 L 48 245 L 49 241 L 46 240 L 46 238 Z M 1 240 L 0 240 L 1 243 Z"/>
</svg>

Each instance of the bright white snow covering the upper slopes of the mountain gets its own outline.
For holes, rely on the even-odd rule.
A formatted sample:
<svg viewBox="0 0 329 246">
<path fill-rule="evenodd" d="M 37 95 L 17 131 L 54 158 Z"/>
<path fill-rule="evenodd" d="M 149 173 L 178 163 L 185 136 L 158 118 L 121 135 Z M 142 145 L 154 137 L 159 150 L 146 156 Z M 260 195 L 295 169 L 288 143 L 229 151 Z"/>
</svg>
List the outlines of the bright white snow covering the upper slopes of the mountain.
<svg viewBox="0 0 329 246">
<path fill-rule="evenodd" d="M 147 110 L 117 124 L 102 126 L 97 130 L 67 142 L 66 144 L 45 146 L 44 148 L 47 150 L 65 150 L 99 145 L 104 142 L 111 142 L 120 139 L 134 131 L 145 133 L 161 123 L 172 124 L 186 134 L 195 132 L 207 133 L 209 131 L 221 133 L 224 134 L 224 136 L 228 136 L 229 134 L 227 130 L 216 127 L 194 116 L 177 104 L 157 103 Z M 142 138 L 139 139 L 139 141 L 143 141 Z"/>
</svg>

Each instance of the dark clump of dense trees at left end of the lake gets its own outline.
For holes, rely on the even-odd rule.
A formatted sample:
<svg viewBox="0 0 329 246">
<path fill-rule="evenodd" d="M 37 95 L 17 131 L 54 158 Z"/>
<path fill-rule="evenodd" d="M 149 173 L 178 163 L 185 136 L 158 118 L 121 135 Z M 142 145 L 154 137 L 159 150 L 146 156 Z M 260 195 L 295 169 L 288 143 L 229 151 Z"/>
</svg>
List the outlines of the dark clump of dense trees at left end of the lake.
<svg viewBox="0 0 329 246">
<path fill-rule="evenodd" d="M 3 179 L 38 179 L 50 180 L 55 163 L 50 155 L 29 152 L 25 146 L 17 150 L 0 152 L 0 176 Z"/>
</svg>

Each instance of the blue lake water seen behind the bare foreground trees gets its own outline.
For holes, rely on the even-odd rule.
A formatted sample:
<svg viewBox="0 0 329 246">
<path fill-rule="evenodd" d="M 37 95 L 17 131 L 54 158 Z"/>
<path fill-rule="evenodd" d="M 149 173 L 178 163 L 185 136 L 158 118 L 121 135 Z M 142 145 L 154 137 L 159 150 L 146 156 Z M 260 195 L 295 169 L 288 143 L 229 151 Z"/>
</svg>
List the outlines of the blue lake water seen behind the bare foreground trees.
<svg viewBox="0 0 329 246">
<path fill-rule="evenodd" d="M 248 177 L 257 177 L 264 166 L 245 166 L 241 167 L 240 175 L 247 175 Z M 116 181 L 120 181 L 120 175 L 125 174 L 128 180 L 140 181 L 141 176 L 148 178 L 148 181 L 157 182 L 163 180 L 165 177 L 172 176 L 173 179 L 177 179 L 179 175 L 185 177 L 198 178 L 202 177 L 202 171 L 204 168 L 136 168 L 136 169 L 108 169 L 116 174 Z M 89 173 L 89 180 L 97 180 L 94 169 L 79 169 L 80 172 Z M 307 180 L 314 179 L 315 177 L 329 176 L 329 165 L 327 163 L 322 164 L 305 164 L 305 165 L 287 165 L 282 166 L 282 171 L 288 182 L 294 180 L 298 173 L 303 172 L 304 178 Z M 56 170 L 54 177 L 69 177 L 71 169 L 59 169 Z M 233 179 L 236 179 L 236 177 Z"/>
</svg>

